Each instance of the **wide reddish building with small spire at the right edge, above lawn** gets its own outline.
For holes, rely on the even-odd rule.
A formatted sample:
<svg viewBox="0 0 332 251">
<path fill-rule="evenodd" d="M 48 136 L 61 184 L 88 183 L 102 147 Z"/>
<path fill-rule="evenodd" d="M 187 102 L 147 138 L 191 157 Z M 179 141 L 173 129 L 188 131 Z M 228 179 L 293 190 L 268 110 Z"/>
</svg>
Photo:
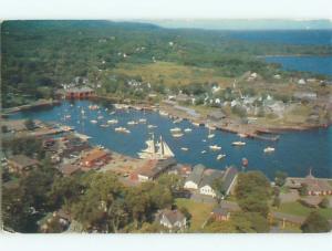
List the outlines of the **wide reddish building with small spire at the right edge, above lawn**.
<svg viewBox="0 0 332 251">
<path fill-rule="evenodd" d="M 332 195 L 332 186 L 329 184 L 332 179 L 315 178 L 311 170 L 304 178 L 288 177 L 286 186 L 290 189 L 299 189 L 301 186 L 307 186 L 308 196 L 328 196 Z"/>
</svg>

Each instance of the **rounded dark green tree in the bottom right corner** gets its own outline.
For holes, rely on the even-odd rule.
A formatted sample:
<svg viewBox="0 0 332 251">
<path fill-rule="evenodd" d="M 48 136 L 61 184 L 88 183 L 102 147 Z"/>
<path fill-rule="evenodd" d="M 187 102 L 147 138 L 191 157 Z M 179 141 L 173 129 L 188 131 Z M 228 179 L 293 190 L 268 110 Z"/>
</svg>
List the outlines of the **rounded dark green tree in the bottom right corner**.
<svg viewBox="0 0 332 251">
<path fill-rule="evenodd" d="M 331 227 L 324 217 L 322 217 L 318 211 L 313 211 L 301 226 L 301 230 L 303 232 L 328 232 L 331 230 Z"/>
</svg>

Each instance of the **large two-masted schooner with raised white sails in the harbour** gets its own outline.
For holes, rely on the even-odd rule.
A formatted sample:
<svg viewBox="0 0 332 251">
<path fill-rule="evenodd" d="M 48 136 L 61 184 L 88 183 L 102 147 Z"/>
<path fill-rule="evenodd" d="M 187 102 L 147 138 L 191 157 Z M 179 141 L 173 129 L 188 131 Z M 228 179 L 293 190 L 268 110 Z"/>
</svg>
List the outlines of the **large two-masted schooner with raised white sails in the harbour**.
<svg viewBox="0 0 332 251">
<path fill-rule="evenodd" d="M 143 159 L 166 159 L 174 157 L 174 153 L 169 148 L 169 146 L 166 144 L 166 142 L 163 140 L 163 137 L 160 136 L 160 139 L 158 143 L 155 142 L 154 134 L 152 135 L 152 138 L 146 140 L 147 147 L 143 149 L 141 153 L 138 153 L 139 158 Z"/>
</svg>

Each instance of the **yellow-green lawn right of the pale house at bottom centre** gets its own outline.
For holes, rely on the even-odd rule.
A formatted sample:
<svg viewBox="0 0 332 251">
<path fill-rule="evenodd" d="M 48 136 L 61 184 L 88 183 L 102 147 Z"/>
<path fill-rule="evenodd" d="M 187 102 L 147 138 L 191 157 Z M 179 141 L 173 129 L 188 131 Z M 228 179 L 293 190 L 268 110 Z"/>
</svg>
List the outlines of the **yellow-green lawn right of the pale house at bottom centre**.
<svg viewBox="0 0 332 251">
<path fill-rule="evenodd" d="M 178 208 L 186 208 L 191 215 L 191 224 L 189 230 L 199 230 L 203 223 L 209 218 L 210 212 L 215 205 L 195 202 L 190 199 L 176 199 Z"/>
</svg>

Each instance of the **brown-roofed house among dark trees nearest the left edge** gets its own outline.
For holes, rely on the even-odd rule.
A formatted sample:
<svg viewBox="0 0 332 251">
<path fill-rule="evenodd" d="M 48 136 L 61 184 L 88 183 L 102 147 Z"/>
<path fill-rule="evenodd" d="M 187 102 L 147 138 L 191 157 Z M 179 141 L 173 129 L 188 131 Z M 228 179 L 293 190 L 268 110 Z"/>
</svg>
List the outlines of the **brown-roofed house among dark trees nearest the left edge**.
<svg viewBox="0 0 332 251">
<path fill-rule="evenodd" d="M 8 167 L 13 172 L 25 172 L 40 165 L 37 159 L 32 159 L 25 155 L 14 155 L 8 159 Z"/>
</svg>

